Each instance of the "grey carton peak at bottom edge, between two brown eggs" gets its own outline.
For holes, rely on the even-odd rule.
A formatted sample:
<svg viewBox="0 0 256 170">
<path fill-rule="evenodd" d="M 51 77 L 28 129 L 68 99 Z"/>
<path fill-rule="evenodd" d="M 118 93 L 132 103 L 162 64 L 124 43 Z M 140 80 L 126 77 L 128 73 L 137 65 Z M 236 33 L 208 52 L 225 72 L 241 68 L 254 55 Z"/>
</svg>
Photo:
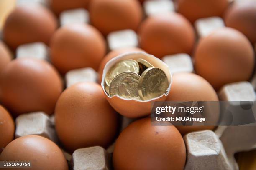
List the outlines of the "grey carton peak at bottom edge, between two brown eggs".
<svg viewBox="0 0 256 170">
<path fill-rule="evenodd" d="M 72 170 L 110 170 L 110 155 L 100 146 L 77 149 L 70 161 Z"/>
</svg>

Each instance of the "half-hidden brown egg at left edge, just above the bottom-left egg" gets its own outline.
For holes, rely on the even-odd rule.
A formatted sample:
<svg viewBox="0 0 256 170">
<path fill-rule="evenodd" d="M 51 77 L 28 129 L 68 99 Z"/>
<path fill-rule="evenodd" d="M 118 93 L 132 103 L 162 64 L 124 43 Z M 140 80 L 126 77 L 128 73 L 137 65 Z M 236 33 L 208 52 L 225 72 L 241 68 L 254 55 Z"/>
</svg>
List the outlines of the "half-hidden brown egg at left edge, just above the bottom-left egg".
<svg viewBox="0 0 256 170">
<path fill-rule="evenodd" d="M 15 124 L 10 113 L 0 105 L 0 153 L 13 140 Z"/>
</svg>

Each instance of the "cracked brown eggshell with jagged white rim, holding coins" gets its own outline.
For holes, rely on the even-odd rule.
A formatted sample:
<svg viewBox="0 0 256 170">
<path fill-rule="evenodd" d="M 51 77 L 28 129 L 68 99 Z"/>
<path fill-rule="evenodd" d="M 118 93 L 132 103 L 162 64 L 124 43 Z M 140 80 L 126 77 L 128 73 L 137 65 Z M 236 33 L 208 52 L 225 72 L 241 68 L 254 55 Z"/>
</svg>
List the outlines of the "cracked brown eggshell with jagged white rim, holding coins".
<svg viewBox="0 0 256 170">
<path fill-rule="evenodd" d="M 154 67 L 158 67 L 161 70 L 165 72 L 168 78 L 169 82 L 169 87 L 166 92 L 166 94 L 163 94 L 160 97 L 153 98 L 151 100 L 145 100 L 145 101 L 139 101 L 139 100 L 127 100 L 118 96 L 113 96 L 110 97 L 106 92 L 105 92 L 105 87 L 104 87 L 104 81 L 105 81 L 105 76 L 108 70 L 112 65 L 114 65 L 116 62 L 119 62 L 120 60 L 125 60 L 125 59 L 133 59 L 133 60 L 138 60 L 138 58 L 142 58 L 144 60 L 147 60 L 150 62 Z M 138 118 L 138 117 L 143 117 L 147 116 L 151 113 L 151 105 L 152 102 L 154 101 L 165 101 L 167 95 L 169 94 L 169 91 L 171 89 L 172 85 L 172 74 L 169 71 L 169 67 L 162 62 L 160 59 L 156 58 L 154 55 L 149 55 L 145 52 L 128 52 L 122 55 L 119 55 L 113 59 L 111 59 L 104 67 L 103 70 L 103 75 L 102 75 L 102 81 L 101 81 L 101 86 L 103 88 L 103 91 L 105 93 L 105 96 L 110 103 L 110 105 L 121 115 L 128 117 L 128 118 Z"/>
</svg>

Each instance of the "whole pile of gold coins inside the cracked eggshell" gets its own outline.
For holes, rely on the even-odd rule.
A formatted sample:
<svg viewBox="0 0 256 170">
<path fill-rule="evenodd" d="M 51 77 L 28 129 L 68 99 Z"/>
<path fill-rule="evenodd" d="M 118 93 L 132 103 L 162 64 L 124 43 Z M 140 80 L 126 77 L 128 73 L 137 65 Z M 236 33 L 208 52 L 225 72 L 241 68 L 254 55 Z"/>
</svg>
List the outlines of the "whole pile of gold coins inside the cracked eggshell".
<svg viewBox="0 0 256 170">
<path fill-rule="evenodd" d="M 150 100 L 167 92 L 166 74 L 148 61 L 139 58 L 115 63 L 105 77 L 105 91 L 128 100 Z"/>
</svg>

